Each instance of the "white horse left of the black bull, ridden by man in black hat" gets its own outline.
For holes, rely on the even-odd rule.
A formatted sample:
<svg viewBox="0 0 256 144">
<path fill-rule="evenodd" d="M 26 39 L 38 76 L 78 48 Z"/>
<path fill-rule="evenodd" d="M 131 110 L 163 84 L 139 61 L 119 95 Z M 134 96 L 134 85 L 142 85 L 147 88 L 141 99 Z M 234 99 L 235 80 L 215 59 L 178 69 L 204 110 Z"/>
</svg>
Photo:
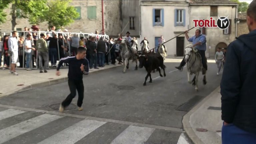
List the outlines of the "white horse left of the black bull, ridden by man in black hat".
<svg viewBox="0 0 256 144">
<path fill-rule="evenodd" d="M 126 39 L 123 38 L 122 39 L 122 42 L 121 42 L 121 45 L 122 45 L 122 49 L 121 49 L 121 58 L 124 62 L 124 69 L 123 69 L 123 73 L 126 72 L 126 68 L 129 69 L 129 60 L 132 60 L 132 62 L 136 62 L 136 67 L 135 67 L 135 70 L 138 70 L 138 65 L 137 65 L 137 52 L 136 52 L 136 49 L 134 48 L 131 48 L 131 52 L 133 53 L 132 54 L 132 57 L 131 57 L 131 53 L 126 45 Z"/>
</svg>

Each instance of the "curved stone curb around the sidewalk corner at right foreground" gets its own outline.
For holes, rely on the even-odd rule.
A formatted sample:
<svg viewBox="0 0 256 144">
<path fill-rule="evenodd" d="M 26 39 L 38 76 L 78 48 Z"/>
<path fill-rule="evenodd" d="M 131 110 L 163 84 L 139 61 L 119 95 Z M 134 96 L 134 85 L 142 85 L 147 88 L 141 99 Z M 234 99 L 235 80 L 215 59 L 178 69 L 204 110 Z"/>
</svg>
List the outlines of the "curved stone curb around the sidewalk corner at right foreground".
<svg viewBox="0 0 256 144">
<path fill-rule="evenodd" d="M 193 141 L 195 144 L 204 144 L 199 137 L 195 134 L 194 130 L 190 125 L 190 116 L 200 107 L 202 106 L 209 98 L 211 98 L 215 93 L 220 90 L 220 87 L 217 87 L 214 91 L 212 91 L 207 97 L 205 97 L 201 102 L 199 102 L 195 107 L 193 107 L 187 114 L 183 116 L 182 124 L 185 132 L 187 133 L 188 137 Z"/>
</svg>

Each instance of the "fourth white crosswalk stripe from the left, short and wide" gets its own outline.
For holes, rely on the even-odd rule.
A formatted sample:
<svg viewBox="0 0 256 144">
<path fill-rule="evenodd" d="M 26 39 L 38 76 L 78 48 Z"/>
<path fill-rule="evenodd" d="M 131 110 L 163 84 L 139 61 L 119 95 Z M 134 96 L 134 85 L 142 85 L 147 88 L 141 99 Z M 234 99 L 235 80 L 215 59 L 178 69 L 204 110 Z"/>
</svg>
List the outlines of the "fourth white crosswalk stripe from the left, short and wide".
<svg viewBox="0 0 256 144">
<path fill-rule="evenodd" d="M 141 144 L 147 141 L 154 130 L 152 128 L 131 125 L 117 136 L 111 144 Z"/>
</svg>

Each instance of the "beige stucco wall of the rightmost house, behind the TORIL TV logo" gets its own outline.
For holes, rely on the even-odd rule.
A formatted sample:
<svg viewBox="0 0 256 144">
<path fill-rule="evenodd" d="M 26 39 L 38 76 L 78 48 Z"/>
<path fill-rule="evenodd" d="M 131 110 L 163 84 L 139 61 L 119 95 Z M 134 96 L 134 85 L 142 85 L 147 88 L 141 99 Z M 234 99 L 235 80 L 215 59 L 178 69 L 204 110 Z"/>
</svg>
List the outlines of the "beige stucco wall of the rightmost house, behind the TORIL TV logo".
<svg viewBox="0 0 256 144">
<path fill-rule="evenodd" d="M 194 26 L 193 19 L 209 19 L 210 18 L 210 6 L 190 6 L 189 12 L 189 27 L 192 28 Z M 234 6 L 218 6 L 218 15 L 228 16 L 228 19 L 231 20 L 231 34 L 223 34 L 223 30 L 219 28 L 206 28 L 206 57 L 214 57 L 216 45 L 220 42 L 224 42 L 227 45 L 235 40 L 235 13 L 236 7 Z M 218 19 L 217 16 L 213 17 L 215 20 Z M 195 30 L 198 28 L 194 28 L 189 32 L 189 36 L 193 36 L 195 34 Z M 209 49 L 211 47 L 211 49 Z"/>
</svg>

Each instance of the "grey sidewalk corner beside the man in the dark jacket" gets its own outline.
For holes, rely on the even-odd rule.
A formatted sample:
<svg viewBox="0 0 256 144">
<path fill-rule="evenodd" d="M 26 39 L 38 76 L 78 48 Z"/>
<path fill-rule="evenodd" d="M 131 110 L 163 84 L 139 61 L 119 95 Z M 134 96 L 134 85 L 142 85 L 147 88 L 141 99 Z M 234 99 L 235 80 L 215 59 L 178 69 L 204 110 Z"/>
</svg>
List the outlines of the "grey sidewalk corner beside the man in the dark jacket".
<svg viewBox="0 0 256 144">
<path fill-rule="evenodd" d="M 221 144 L 222 122 L 220 87 L 189 111 L 182 120 L 184 130 L 195 144 Z M 200 132 L 200 129 L 207 131 Z"/>
</svg>

